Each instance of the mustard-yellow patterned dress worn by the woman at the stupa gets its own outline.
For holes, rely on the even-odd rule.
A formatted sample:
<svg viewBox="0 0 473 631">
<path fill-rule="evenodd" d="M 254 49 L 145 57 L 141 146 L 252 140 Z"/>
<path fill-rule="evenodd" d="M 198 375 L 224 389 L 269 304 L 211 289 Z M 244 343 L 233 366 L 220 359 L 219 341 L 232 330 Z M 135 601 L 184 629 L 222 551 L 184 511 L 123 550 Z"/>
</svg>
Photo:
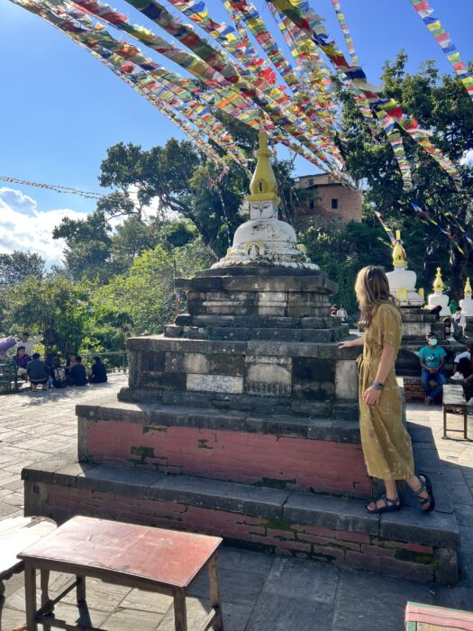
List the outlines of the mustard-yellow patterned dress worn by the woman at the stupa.
<svg viewBox="0 0 473 631">
<path fill-rule="evenodd" d="M 401 315 L 396 306 L 377 306 L 359 357 L 359 431 L 368 475 L 381 480 L 405 480 L 414 475 L 411 437 L 402 422 L 402 399 L 394 369 L 401 338 Z M 376 379 L 383 343 L 394 347 L 395 361 L 379 403 L 368 406 L 363 393 Z"/>
</svg>

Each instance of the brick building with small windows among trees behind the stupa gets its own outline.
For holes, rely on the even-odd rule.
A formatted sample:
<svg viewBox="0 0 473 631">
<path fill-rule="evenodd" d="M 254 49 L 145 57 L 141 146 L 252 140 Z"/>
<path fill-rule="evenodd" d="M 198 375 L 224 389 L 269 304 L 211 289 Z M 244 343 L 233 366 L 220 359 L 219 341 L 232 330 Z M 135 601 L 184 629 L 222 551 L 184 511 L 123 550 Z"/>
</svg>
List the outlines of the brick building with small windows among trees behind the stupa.
<svg viewBox="0 0 473 631">
<path fill-rule="evenodd" d="M 302 176 L 297 179 L 296 187 L 306 192 L 297 209 L 299 229 L 311 225 L 314 217 L 339 219 L 343 223 L 361 221 L 361 193 L 344 187 L 330 175 L 318 173 Z"/>
</svg>

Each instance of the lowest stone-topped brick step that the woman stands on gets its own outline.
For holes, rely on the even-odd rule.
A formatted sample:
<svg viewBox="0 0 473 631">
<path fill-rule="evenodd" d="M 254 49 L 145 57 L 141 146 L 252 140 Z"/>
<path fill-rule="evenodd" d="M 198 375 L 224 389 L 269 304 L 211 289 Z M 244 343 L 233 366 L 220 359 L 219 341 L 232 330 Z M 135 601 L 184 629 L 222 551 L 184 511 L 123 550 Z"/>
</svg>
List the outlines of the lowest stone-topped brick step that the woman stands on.
<svg viewBox="0 0 473 631">
<path fill-rule="evenodd" d="M 223 536 L 227 542 L 343 568 L 422 581 L 458 581 L 451 508 L 380 517 L 350 498 L 166 476 L 156 471 L 44 462 L 22 471 L 25 515 L 74 515 Z"/>
</svg>

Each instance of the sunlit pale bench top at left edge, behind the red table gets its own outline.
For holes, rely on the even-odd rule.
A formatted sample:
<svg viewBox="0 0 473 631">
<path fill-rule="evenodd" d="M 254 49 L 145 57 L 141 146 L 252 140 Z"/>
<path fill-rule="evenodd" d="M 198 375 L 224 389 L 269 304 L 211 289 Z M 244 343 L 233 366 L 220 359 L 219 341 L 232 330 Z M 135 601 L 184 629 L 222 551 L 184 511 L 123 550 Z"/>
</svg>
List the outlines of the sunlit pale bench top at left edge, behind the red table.
<svg viewBox="0 0 473 631">
<path fill-rule="evenodd" d="M 16 572 L 23 572 L 23 561 L 17 554 L 56 527 L 46 517 L 11 517 L 0 521 L 0 598 L 5 593 L 4 581 Z"/>
</svg>

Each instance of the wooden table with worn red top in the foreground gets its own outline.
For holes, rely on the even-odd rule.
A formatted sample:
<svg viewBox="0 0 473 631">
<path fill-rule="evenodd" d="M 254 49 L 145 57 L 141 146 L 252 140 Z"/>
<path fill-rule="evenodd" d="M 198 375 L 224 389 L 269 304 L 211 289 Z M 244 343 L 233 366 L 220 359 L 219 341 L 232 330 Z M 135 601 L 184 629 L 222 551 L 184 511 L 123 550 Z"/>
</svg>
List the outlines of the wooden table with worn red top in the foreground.
<svg viewBox="0 0 473 631">
<path fill-rule="evenodd" d="M 221 543 L 220 537 L 73 517 L 18 555 L 24 561 L 28 631 L 36 631 L 37 623 L 50 616 L 54 605 L 74 587 L 77 603 L 86 601 L 87 576 L 173 596 L 176 630 L 186 631 L 186 592 L 205 568 L 212 610 L 201 631 L 211 627 L 222 631 L 216 565 L 216 550 Z M 36 603 L 37 570 L 41 571 L 40 609 Z M 48 593 L 51 571 L 76 575 L 76 581 L 54 600 Z M 56 626 L 62 628 L 77 628 L 57 622 Z M 50 618 L 47 624 L 52 626 Z"/>
</svg>

